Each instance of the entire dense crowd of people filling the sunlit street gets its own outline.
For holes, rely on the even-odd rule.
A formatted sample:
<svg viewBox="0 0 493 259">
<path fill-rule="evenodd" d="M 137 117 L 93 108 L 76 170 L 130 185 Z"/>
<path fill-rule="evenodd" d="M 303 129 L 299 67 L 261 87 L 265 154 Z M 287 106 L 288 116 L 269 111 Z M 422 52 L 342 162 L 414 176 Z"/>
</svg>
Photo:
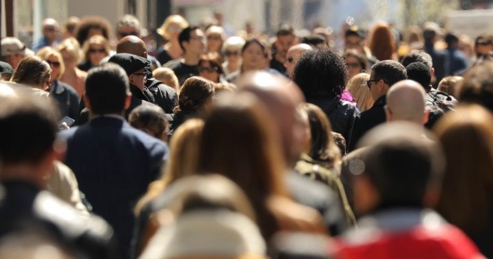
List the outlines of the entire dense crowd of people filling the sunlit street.
<svg viewBox="0 0 493 259">
<path fill-rule="evenodd" d="M 493 257 L 492 34 L 156 32 L 1 39 L 0 258 Z"/>
</svg>

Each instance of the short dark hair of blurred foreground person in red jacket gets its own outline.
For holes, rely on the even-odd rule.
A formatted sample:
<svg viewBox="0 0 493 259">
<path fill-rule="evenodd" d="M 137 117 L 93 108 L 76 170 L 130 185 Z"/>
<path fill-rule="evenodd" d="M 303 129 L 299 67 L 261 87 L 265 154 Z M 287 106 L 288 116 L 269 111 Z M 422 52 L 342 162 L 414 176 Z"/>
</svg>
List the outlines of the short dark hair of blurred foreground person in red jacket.
<svg viewBox="0 0 493 259">
<path fill-rule="evenodd" d="M 442 163 L 431 141 L 399 137 L 369 148 L 364 175 L 379 193 L 379 206 L 422 206 L 426 191 L 438 185 Z"/>
</svg>

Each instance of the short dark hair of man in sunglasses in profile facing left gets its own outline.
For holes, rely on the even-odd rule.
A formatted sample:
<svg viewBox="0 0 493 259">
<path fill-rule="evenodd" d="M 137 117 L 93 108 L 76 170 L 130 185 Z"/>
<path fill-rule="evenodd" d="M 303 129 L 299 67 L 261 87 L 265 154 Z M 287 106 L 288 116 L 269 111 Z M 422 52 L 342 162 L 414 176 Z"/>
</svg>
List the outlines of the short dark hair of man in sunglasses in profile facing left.
<svg viewBox="0 0 493 259">
<path fill-rule="evenodd" d="M 390 87 L 394 83 L 407 79 L 405 67 L 395 60 L 382 60 L 372 66 L 375 80 L 382 79 Z"/>
</svg>

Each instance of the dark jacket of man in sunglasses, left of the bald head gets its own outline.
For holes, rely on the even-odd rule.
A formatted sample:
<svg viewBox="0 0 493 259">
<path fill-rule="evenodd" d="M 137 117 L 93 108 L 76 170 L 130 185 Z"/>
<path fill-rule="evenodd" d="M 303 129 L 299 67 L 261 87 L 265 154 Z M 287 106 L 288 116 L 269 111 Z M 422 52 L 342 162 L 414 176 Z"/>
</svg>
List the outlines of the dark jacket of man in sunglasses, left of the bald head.
<svg viewBox="0 0 493 259">
<path fill-rule="evenodd" d="M 356 117 L 353 135 L 349 141 L 348 150 L 353 151 L 356 147 L 357 142 L 365 133 L 370 131 L 371 128 L 377 126 L 386 121 L 385 118 L 385 105 L 387 104 L 386 96 L 381 96 L 373 106 L 363 111 L 359 116 Z"/>
</svg>

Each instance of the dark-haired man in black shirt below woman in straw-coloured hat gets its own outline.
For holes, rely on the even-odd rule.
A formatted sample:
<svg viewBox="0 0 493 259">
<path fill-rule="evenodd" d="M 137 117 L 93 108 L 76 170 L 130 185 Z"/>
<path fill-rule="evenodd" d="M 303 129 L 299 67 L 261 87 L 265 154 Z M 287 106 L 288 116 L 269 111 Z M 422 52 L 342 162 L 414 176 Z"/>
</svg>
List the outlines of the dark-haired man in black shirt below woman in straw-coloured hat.
<svg viewBox="0 0 493 259">
<path fill-rule="evenodd" d="M 170 66 L 178 78 L 179 85 L 183 85 L 189 77 L 199 75 L 199 59 L 205 52 L 205 38 L 199 27 L 186 27 L 179 33 L 179 44 L 184 52 L 184 58 Z"/>
</svg>

